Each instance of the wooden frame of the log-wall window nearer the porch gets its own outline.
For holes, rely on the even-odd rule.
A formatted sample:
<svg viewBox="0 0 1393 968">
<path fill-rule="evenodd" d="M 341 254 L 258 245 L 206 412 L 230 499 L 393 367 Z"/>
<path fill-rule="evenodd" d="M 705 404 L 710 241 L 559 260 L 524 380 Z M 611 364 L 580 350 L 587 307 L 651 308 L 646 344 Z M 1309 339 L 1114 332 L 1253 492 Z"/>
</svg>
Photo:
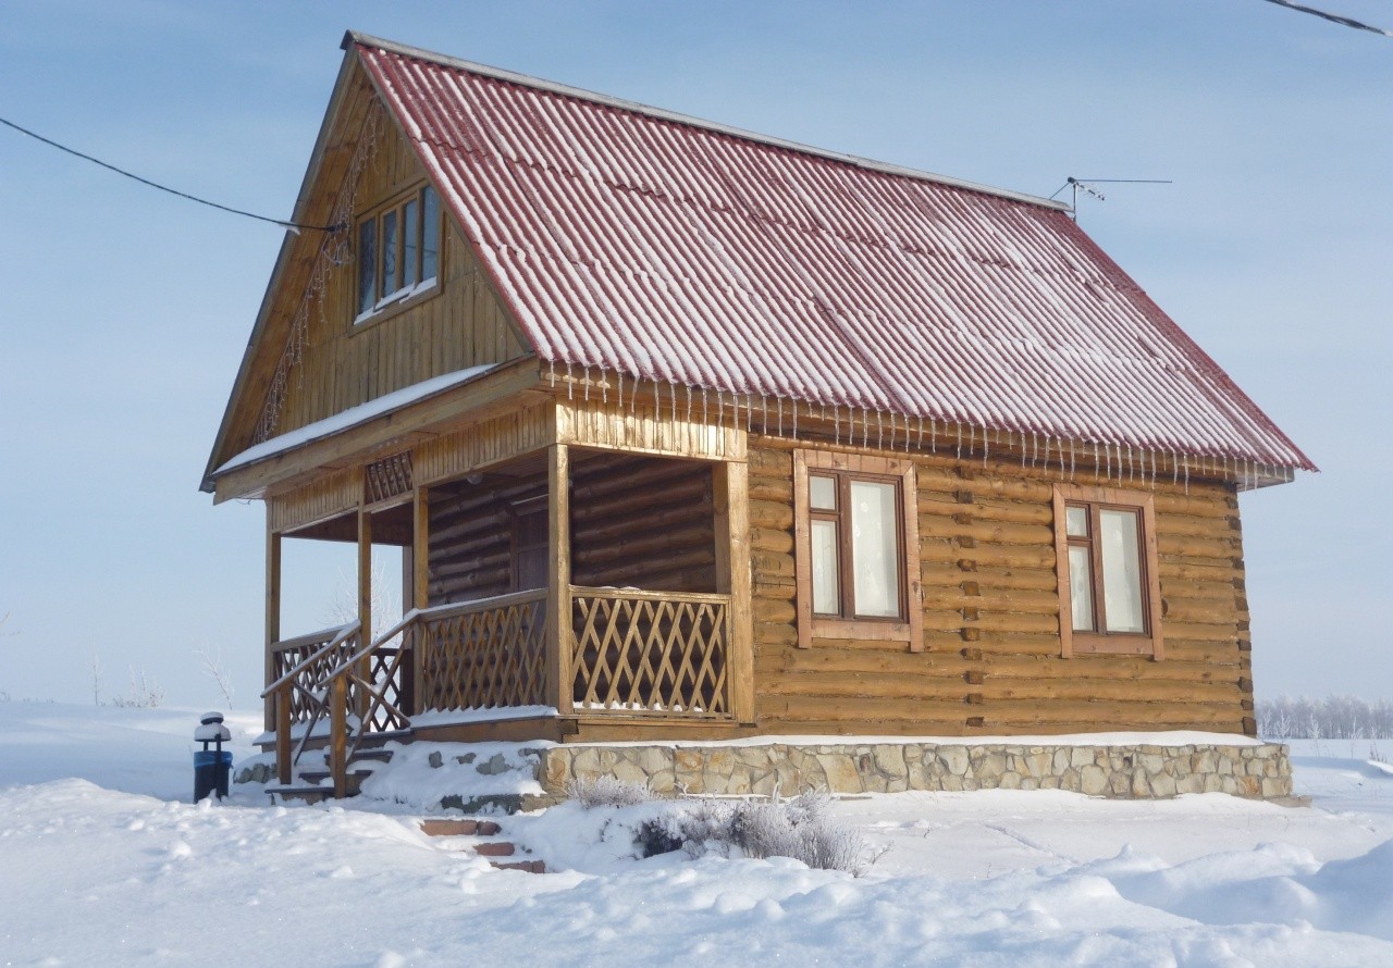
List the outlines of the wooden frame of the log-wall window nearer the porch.
<svg viewBox="0 0 1393 968">
<path fill-rule="evenodd" d="M 898 485 L 897 557 L 900 577 L 900 618 L 878 617 L 830 617 L 812 611 L 812 520 L 808 478 L 816 472 Z M 841 454 L 820 450 L 795 450 L 793 454 L 794 478 L 794 572 L 797 579 L 798 648 L 811 649 L 815 638 L 864 639 L 880 642 L 907 642 L 910 652 L 924 650 L 924 595 L 919 575 L 919 521 L 918 492 L 915 487 L 914 462 L 868 454 Z M 839 552 L 839 567 L 846 570 L 846 554 L 850 542 L 843 542 Z M 846 584 L 839 591 L 844 596 L 854 593 Z"/>
</svg>

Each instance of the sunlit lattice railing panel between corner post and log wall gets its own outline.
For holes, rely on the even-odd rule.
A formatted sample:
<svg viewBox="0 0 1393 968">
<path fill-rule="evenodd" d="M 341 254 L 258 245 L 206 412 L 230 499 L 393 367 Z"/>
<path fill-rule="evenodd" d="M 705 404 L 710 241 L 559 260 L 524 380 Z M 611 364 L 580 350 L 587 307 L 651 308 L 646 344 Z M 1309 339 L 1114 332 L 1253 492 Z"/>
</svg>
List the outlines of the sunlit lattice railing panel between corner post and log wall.
<svg viewBox="0 0 1393 968">
<path fill-rule="evenodd" d="M 730 599 L 574 589 L 577 710 L 730 717 Z"/>
</svg>

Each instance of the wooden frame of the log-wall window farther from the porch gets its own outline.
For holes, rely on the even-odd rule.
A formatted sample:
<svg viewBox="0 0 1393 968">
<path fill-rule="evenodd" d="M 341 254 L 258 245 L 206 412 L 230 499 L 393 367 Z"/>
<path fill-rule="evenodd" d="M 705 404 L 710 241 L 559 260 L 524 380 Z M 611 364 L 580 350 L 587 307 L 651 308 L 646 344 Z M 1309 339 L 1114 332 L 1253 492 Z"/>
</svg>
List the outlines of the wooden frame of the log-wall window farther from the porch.
<svg viewBox="0 0 1393 968">
<path fill-rule="evenodd" d="M 1103 584 L 1100 554 L 1092 556 L 1094 571 L 1094 614 L 1100 631 L 1078 631 L 1074 628 L 1073 589 L 1068 567 L 1068 521 L 1066 510 L 1070 504 L 1088 507 L 1089 542 L 1096 549 L 1099 511 L 1117 508 L 1138 511 L 1141 535 L 1138 553 L 1141 556 L 1142 616 L 1146 630 L 1142 632 L 1109 632 L 1103 628 Z M 1092 487 L 1084 485 L 1055 485 L 1055 574 L 1059 579 L 1059 638 L 1060 653 L 1068 659 L 1075 655 L 1126 655 L 1165 657 L 1165 635 L 1162 632 L 1160 568 L 1156 560 L 1156 501 L 1152 494 L 1119 487 Z M 1075 542 L 1077 543 L 1077 542 Z"/>
</svg>

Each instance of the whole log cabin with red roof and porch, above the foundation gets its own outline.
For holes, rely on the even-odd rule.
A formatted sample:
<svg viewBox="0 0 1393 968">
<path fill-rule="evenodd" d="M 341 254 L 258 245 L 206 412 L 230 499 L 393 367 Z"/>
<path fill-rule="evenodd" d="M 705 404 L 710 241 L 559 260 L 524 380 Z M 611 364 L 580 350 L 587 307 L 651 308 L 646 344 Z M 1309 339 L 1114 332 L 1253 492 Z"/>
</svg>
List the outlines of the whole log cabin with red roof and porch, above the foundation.
<svg viewBox="0 0 1393 968">
<path fill-rule="evenodd" d="M 1314 465 L 1067 206 L 344 52 L 202 483 L 265 501 L 281 781 L 311 740 L 341 791 L 383 738 L 1254 735 L 1238 494 Z M 352 623 L 281 635 L 288 539 L 357 546 Z"/>
</svg>

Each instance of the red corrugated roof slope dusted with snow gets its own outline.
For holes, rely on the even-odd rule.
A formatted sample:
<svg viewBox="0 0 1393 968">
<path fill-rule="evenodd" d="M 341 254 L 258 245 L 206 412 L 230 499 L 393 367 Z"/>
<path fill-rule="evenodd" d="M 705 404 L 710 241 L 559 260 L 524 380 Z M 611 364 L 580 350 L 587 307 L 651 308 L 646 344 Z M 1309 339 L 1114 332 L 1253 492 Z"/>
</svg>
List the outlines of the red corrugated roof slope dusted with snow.
<svg viewBox="0 0 1393 968">
<path fill-rule="evenodd" d="M 355 39 L 545 361 L 1314 469 L 1060 206 Z"/>
</svg>

